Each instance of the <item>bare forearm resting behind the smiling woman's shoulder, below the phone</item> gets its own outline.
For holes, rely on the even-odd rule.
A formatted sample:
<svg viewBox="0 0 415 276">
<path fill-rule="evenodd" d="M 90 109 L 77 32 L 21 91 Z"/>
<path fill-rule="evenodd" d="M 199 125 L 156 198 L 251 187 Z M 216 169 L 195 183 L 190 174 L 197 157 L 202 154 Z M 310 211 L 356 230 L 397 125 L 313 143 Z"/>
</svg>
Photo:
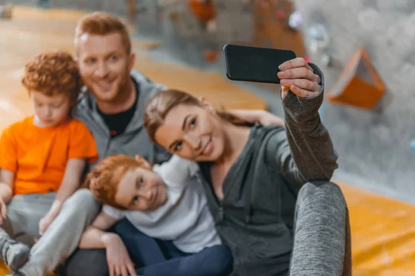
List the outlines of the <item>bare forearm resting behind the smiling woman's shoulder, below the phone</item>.
<svg viewBox="0 0 415 276">
<path fill-rule="evenodd" d="M 266 110 L 226 110 L 226 112 L 234 115 L 238 119 L 243 121 L 247 121 L 248 123 L 259 123 L 262 126 L 270 126 L 270 125 L 277 125 L 277 126 L 284 126 L 284 120 L 273 113 L 270 113 Z"/>
</svg>

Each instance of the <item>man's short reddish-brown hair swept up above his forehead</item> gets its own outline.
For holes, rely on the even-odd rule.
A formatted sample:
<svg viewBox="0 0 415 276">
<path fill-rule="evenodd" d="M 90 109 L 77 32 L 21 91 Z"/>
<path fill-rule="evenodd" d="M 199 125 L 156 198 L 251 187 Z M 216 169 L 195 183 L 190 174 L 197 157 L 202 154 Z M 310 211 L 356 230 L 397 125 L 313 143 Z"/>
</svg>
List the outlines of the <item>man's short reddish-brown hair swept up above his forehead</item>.
<svg viewBox="0 0 415 276">
<path fill-rule="evenodd" d="M 127 27 L 118 19 L 107 12 L 93 12 L 86 14 L 77 23 L 75 29 L 75 48 L 77 48 L 77 40 L 82 34 L 107 35 L 119 33 L 124 43 L 127 54 L 131 52 L 131 40 Z"/>
</svg>

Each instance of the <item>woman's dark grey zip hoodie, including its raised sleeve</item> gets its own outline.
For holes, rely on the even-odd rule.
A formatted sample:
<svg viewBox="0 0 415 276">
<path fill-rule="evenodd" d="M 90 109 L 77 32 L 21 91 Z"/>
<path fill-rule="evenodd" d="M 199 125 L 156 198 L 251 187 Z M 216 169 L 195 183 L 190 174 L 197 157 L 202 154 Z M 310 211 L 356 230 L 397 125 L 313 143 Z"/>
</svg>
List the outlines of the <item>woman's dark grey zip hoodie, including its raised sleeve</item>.
<svg viewBox="0 0 415 276">
<path fill-rule="evenodd" d="M 324 83 L 320 69 L 311 66 Z M 323 97 L 289 92 L 283 100 L 285 129 L 251 128 L 223 181 L 223 200 L 212 189 L 210 164 L 199 164 L 216 228 L 234 257 L 234 275 L 288 275 L 297 192 L 307 181 L 330 179 L 338 167 L 318 114 Z"/>
</svg>

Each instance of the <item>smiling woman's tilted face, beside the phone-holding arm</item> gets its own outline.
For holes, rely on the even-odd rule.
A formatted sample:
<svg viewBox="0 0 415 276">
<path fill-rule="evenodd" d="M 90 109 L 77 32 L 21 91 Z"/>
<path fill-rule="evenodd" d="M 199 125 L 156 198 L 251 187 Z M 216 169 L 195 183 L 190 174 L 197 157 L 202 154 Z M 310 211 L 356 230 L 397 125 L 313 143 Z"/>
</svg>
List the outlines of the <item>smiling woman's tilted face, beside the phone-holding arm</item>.
<svg viewBox="0 0 415 276">
<path fill-rule="evenodd" d="M 178 105 L 165 117 L 154 139 L 160 146 L 192 161 L 216 161 L 225 148 L 223 122 L 208 102 Z"/>
</svg>

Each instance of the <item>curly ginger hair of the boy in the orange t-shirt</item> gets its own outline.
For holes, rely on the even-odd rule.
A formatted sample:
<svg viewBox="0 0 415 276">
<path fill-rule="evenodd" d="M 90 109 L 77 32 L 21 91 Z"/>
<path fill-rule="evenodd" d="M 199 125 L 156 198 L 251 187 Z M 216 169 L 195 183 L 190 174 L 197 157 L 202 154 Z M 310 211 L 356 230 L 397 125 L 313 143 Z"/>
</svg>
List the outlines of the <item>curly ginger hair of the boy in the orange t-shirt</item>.
<svg viewBox="0 0 415 276">
<path fill-rule="evenodd" d="M 82 88 L 80 73 L 72 56 L 66 52 L 44 52 L 26 63 L 21 83 L 28 91 L 49 97 L 67 94 L 74 106 Z"/>
</svg>

